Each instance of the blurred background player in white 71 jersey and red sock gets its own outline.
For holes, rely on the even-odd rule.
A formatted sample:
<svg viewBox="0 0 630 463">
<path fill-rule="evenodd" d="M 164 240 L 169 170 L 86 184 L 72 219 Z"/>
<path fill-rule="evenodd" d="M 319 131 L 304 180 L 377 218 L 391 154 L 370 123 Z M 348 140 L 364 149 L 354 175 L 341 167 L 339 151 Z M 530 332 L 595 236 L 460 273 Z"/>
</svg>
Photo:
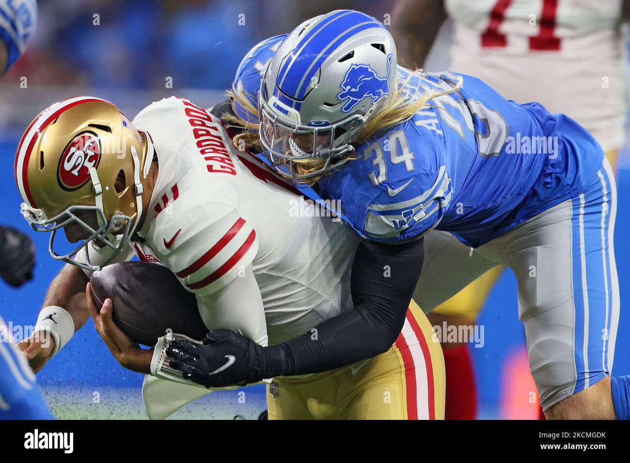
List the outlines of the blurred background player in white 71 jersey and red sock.
<svg viewBox="0 0 630 463">
<path fill-rule="evenodd" d="M 539 101 L 551 113 L 570 116 L 597 139 L 616 171 L 627 111 L 622 7 L 627 18 L 627 0 L 402 0 L 392 33 L 401 43 L 399 62 L 413 69 L 426 66 L 443 28 L 439 46 L 451 45 L 450 64 L 441 66 L 479 77 L 517 103 Z M 502 270 L 491 270 L 435 309 L 428 315 L 432 324 L 475 324 Z M 468 346 L 443 347 L 445 417 L 473 419 L 477 392 Z M 522 385 L 525 393 L 534 390 L 532 382 Z"/>
</svg>

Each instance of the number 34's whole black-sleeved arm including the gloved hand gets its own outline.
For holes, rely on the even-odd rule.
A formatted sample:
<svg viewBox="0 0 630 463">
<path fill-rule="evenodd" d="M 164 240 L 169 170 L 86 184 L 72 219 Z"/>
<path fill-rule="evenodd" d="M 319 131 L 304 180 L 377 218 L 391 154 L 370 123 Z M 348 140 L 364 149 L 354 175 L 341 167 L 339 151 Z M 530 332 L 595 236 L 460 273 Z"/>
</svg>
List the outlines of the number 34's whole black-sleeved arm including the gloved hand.
<svg viewBox="0 0 630 463">
<path fill-rule="evenodd" d="M 318 373 L 374 357 L 389 349 L 403 328 L 423 257 L 422 239 L 397 245 L 363 241 L 352 266 L 354 310 L 270 347 L 226 329 L 210 331 L 203 346 L 175 340 L 166 349 L 170 365 L 205 387 L 224 387 Z"/>
</svg>

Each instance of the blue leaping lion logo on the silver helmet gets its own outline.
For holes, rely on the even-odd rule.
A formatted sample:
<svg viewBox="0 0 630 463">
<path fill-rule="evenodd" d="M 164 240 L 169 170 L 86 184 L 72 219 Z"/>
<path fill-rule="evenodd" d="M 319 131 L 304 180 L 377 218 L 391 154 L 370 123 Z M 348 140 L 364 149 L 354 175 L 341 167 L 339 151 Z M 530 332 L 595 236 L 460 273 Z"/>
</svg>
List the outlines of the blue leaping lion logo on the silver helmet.
<svg viewBox="0 0 630 463">
<path fill-rule="evenodd" d="M 387 76 L 379 77 L 376 71 L 367 64 L 352 64 L 343 77 L 337 94 L 339 101 L 346 101 L 341 108 L 342 113 L 348 113 L 364 98 L 370 96 L 372 105 L 389 94 L 389 76 L 391 76 L 392 55 L 387 55 Z"/>
</svg>

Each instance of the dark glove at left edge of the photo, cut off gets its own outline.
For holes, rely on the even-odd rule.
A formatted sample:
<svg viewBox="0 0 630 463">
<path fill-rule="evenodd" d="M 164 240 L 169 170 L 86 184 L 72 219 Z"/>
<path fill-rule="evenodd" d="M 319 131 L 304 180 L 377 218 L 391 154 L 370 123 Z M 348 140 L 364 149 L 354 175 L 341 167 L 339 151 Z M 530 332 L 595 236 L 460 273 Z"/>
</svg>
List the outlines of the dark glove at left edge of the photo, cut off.
<svg viewBox="0 0 630 463">
<path fill-rule="evenodd" d="M 33 278 L 35 245 L 14 228 L 0 227 L 0 276 L 13 287 Z"/>
</svg>

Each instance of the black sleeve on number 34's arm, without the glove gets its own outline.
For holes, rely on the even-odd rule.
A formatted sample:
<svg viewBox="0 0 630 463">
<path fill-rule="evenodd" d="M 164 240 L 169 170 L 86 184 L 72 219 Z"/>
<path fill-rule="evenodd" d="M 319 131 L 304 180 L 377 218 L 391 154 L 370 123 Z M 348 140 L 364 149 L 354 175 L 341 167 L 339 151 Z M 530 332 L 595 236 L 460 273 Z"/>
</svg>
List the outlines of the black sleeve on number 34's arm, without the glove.
<svg viewBox="0 0 630 463">
<path fill-rule="evenodd" d="M 396 245 L 362 241 L 350 277 L 354 310 L 264 348 L 263 377 L 333 370 L 386 352 L 403 328 L 423 258 L 423 239 Z"/>
</svg>

